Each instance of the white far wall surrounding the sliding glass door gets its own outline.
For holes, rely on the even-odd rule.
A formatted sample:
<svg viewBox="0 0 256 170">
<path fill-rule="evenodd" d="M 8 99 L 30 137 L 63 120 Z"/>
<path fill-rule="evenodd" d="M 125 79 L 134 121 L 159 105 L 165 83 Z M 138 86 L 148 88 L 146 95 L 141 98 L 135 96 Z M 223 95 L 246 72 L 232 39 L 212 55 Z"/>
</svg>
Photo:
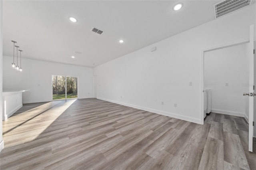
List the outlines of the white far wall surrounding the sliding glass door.
<svg viewBox="0 0 256 170">
<path fill-rule="evenodd" d="M 26 51 L 23 52 L 26 55 Z M 52 101 L 52 75 L 78 77 L 78 98 L 93 96 L 92 68 L 22 59 L 22 73 L 11 68 L 13 57 L 3 57 L 3 91 L 28 90 L 23 103 Z"/>
</svg>

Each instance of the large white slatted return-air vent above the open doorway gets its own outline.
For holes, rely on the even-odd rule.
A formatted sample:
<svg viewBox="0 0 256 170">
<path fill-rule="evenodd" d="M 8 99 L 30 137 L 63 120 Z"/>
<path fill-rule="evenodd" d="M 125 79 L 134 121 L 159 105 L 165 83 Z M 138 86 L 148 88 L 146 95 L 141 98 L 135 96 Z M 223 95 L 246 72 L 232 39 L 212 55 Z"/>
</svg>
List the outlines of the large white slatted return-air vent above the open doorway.
<svg viewBox="0 0 256 170">
<path fill-rule="evenodd" d="M 213 4 L 214 19 L 252 4 L 253 0 L 222 0 Z"/>
</svg>

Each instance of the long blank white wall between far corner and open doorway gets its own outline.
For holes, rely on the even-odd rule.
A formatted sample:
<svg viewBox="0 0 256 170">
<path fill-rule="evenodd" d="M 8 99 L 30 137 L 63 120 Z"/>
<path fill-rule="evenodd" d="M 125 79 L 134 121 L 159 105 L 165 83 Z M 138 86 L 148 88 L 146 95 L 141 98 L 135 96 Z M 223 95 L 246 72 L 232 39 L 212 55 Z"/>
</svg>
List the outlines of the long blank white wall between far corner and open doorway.
<svg viewBox="0 0 256 170">
<path fill-rule="evenodd" d="M 251 24 L 255 4 L 99 65 L 98 99 L 203 123 L 202 50 L 248 41 Z"/>
</svg>

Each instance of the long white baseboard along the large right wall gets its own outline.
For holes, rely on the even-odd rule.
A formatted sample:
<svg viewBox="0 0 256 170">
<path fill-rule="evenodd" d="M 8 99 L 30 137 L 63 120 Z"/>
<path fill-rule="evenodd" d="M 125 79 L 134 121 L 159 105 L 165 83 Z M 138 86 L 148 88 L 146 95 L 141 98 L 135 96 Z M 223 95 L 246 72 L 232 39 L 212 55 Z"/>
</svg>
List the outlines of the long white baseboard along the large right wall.
<svg viewBox="0 0 256 170">
<path fill-rule="evenodd" d="M 111 103 L 116 103 L 116 104 L 119 104 L 119 105 L 132 107 L 132 108 L 135 108 L 135 109 L 140 109 L 140 110 L 143 110 L 143 111 L 157 113 L 159 115 L 164 115 L 164 116 L 173 117 L 173 118 L 176 118 L 176 119 L 181 119 L 181 120 L 184 120 L 184 121 L 189 121 L 189 122 L 198 123 L 198 124 L 201 123 L 200 119 L 196 119 L 194 117 L 183 116 L 183 115 L 179 115 L 179 114 L 176 114 L 176 113 L 160 111 L 160 110 L 156 110 L 156 109 L 152 109 L 152 108 L 148 108 L 148 107 L 142 107 L 142 106 L 132 105 L 132 104 L 128 104 L 128 103 L 122 103 L 122 102 L 113 101 L 113 100 L 109 100 L 109 99 L 104 99 L 104 98 L 100 98 L 100 97 L 98 97 L 97 99 L 104 100 L 104 101 L 109 101 Z"/>
</svg>

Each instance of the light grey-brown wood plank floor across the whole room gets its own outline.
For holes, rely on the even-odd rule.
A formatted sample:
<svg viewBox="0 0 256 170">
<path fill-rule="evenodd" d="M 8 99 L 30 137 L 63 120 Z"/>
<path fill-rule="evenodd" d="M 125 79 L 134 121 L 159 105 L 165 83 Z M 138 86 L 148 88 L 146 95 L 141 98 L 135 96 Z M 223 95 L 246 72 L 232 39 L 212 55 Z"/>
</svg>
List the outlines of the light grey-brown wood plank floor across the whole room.
<svg viewBox="0 0 256 170">
<path fill-rule="evenodd" d="M 256 170 L 248 124 L 216 113 L 198 125 L 98 99 L 26 104 L 3 138 L 1 170 Z"/>
</svg>

